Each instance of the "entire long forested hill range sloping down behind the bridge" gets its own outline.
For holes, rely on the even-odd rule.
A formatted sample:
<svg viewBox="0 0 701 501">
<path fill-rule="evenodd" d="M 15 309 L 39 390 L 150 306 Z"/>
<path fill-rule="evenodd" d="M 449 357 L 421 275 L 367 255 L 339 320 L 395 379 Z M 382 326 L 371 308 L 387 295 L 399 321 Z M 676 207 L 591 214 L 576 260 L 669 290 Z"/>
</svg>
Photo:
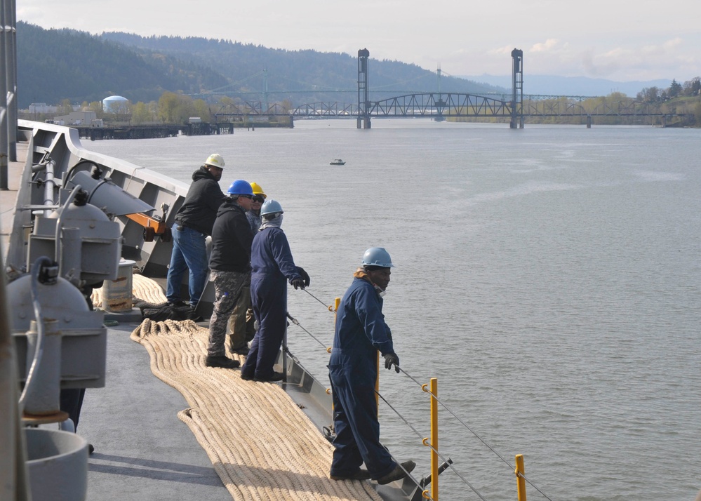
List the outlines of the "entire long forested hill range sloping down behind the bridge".
<svg viewBox="0 0 701 501">
<path fill-rule="evenodd" d="M 100 36 L 73 29 L 17 25 L 18 105 L 93 102 L 123 95 L 131 102 L 158 100 L 164 91 L 201 95 L 215 89 L 260 92 L 267 76 L 269 101 L 357 100 L 355 55 L 286 51 L 232 41 L 178 36 Z M 372 52 L 370 51 L 370 55 Z M 505 61 L 505 66 L 510 62 Z M 435 72 L 398 61 L 370 60 L 371 91 L 437 91 Z M 346 90 L 347 93 L 330 92 Z M 502 91 L 443 76 L 443 92 Z M 288 92 L 281 92 L 288 91 Z M 314 91 L 300 94 L 294 91 Z M 239 94 L 246 100 L 260 95 Z M 198 96 L 201 97 L 201 96 Z M 217 100 L 221 95 L 213 95 Z M 378 98 L 378 96 L 373 96 Z"/>
</svg>

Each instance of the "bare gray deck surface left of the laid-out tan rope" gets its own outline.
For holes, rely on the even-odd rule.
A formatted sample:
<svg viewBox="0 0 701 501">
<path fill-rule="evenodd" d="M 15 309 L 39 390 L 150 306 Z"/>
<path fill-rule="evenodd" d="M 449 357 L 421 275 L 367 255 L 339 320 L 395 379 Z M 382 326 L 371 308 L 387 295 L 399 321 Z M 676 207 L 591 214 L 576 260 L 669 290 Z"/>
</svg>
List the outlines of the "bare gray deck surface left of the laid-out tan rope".
<svg viewBox="0 0 701 501">
<path fill-rule="evenodd" d="M 180 392 L 151 372 L 138 323 L 109 328 L 105 388 L 87 389 L 78 434 L 95 447 L 88 500 L 231 500 L 178 411 Z"/>
</svg>

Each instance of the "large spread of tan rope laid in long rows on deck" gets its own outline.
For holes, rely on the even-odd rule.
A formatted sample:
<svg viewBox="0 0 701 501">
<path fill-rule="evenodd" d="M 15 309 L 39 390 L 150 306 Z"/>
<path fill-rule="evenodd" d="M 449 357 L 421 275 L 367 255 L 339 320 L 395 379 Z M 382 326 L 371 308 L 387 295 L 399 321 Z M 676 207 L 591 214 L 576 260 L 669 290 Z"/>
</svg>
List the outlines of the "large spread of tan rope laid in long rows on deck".
<svg viewBox="0 0 701 501">
<path fill-rule="evenodd" d="M 279 385 L 206 367 L 208 334 L 193 321 L 146 319 L 131 339 L 151 355 L 154 375 L 185 397 L 178 418 L 234 500 L 380 500 L 366 481 L 328 478 L 333 446 Z"/>
</svg>

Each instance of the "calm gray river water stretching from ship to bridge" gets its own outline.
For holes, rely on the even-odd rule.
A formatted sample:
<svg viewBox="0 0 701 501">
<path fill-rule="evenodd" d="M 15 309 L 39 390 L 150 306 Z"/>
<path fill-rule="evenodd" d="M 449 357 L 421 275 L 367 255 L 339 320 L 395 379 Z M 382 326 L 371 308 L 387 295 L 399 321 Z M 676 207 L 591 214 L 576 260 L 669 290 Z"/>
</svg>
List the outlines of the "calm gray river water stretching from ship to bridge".
<svg viewBox="0 0 701 501">
<path fill-rule="evenodd" d="M 223 189 L 244 178 L 281 202 L 326 304 L 366 248 L 387 248 L 402 368 L 439 378 L 441 400 L 506 461 L 441 410 L 441 453 L 485 499 L 516 498 L 519 453 L 552 500 L 693 500 L 701 488 L 701 131 L 298 121 L 84 145 L 180 180 L 222 154 Z M 291 290 L 289 310 L 331 344 L 323 305 Z M 289 338 L 326 380 L 321 346 L 295 326 Z M 384 370 L 380 385 L 429 436 L 420 387 Z M 384 403 L 380 414 L 385 445 L 426 474 L 420 437 Z M 448 470 L 441 499 L 479 497 Z M 528 486 L 528 499 L 544 498 Z"/>
</svg>

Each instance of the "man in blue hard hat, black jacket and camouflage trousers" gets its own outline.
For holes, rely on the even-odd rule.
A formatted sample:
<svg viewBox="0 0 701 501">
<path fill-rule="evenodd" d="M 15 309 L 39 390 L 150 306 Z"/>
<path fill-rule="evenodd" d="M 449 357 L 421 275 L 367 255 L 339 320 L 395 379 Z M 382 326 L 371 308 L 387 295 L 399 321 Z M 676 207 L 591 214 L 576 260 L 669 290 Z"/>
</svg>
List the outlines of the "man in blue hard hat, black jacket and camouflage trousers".
<svg viewBox="0 0 701 501">
<path fill-rule="evenodd" d="M 212 253 L 209 258 L 214 282 L 214 311 L 209 321 L 209 346 L 206 366 L 236 368 L 238 360 L 226 356 L 224 342 L 227 322 L 244 292 L 251 286 L 251 242 L 253 234 L 246 211 L 253 203 L 253 190 L 244 180 L 229 187 L 229 197 L 222 203 L 212 230 Z"/>
</svg>

